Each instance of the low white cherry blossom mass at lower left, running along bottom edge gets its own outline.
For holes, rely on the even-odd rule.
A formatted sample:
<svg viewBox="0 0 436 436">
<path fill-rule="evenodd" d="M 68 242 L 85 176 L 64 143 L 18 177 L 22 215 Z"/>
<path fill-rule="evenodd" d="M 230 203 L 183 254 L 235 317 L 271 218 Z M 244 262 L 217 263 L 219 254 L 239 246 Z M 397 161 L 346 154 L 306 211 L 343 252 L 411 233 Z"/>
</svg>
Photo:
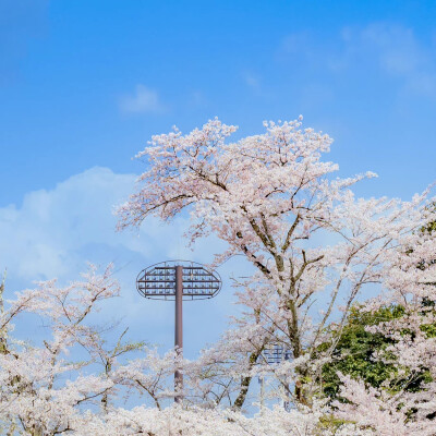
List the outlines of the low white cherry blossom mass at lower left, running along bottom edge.
<svg viewBox="0 0 436 436">
<path fill-rule="evenodd" d="M 0 291 L 3 296 L 3 286 Z M 102 274 L 92 268 L 68 287 L 51 280 L 13 300 L 1 298 L 1 434 L 312 436 L 323 432 L 344 436 L 353 431 L 368 435 L 354 424 L 342 426 L 339 433 L 324 431 L 323 404 L 291 412 L 276 407 L 253 417 L 207 403 L 164 408 L 161 400 L 175 395 L 170 389 L 174 370 L 185 364 L 186 374 L 193 376 L 195 368 L 190 373 L 190 364 L 180 362 L 173 351 L 160 356 L 155 349 L 126 342 L 125 331 L 108 347 L 102 329 L 93 326 L 89 317 L 118 292 L 110 268 Z M 39 344 L 19 340 L 13 332 L 12 323 L 33 314 L 44 319 L 47 331 Z M 77 347 L 84 352 L 78 353 Z M 122 408 L 122 398 L 132 396 L 133 389 L 138 392 L 137 405 Z M 144 397 L 153 400 L 152 407 L 144 404 Z"/>
</svg>

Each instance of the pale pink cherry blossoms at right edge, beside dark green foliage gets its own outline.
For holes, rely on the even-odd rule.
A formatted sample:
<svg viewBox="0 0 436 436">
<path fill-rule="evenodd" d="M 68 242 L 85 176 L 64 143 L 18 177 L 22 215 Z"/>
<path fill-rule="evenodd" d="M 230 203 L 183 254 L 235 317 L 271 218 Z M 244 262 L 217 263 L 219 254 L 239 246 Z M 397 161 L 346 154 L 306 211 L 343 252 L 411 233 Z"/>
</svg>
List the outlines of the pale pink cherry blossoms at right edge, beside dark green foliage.
<svg viewBox="0 0 436 436">
<path fill-rule="evenodd" d="M 341 396 L 347 402 L 336 402 L 337 415 L 371 426 L 382 436 L 436 434 L 436 244 L 429 229 L 404 235 L 403 244 L 389 253 L 385 293 L 365 307 L 375 312 L 395 305 L 404 312 L 367 327 L 391 339 L 373 358 L 396 371 L 378 389 L 341 376 Z"/>
</svg>

